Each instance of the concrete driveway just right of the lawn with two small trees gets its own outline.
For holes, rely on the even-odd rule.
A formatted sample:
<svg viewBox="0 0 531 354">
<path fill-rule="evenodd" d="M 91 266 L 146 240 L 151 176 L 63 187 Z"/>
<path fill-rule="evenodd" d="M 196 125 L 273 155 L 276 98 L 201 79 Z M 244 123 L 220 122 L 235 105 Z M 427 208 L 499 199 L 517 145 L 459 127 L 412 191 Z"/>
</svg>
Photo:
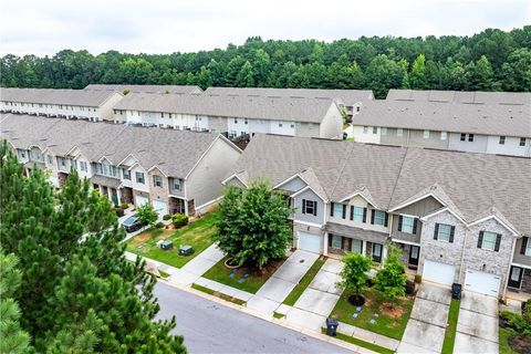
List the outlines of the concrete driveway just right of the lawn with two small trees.
<svg viewBox="0 0 531 354">
<path fill-rule="evenodd" d="M 417 291 L 397 353 L 440 353 L 450 301 L 448 288 L 423 283 Z"/>
</svg>

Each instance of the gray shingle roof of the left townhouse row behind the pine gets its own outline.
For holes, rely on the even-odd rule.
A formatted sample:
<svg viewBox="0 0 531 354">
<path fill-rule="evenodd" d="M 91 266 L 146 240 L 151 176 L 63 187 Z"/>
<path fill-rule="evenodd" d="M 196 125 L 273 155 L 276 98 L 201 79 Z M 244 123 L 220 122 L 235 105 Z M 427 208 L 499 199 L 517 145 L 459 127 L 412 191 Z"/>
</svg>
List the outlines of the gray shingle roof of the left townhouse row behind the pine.
<svg viewBox="0 0 531 354">
<path fill-rule="evenodd" d="M 13 114 L 2 118 L 0 133 L 17 148 L 39 144 L 41 149 L 64 156 L 77 147 L 92 162 L 106 157 L 117 165 L 133 155 L 145 169 L 157 166 L 165 175 L 179 178 L 188 175 L 219 136 Z"/>
</svg>

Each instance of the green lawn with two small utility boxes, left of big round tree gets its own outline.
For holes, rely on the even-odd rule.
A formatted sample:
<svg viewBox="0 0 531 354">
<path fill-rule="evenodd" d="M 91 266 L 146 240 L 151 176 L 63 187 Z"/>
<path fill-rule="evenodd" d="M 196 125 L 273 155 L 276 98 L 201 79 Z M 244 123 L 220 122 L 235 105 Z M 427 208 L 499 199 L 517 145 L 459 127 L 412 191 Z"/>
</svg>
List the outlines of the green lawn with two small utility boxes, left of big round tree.
<svg viewBox="0 0 531 354">
<path fill-rule="evenodd" d="M 127 251 L 181 268 L 212 244 L 215 233 L 214 214 L 207 214 L 178 230 L 154 229 L 142 232 L 126 242 Z M 157 248 L 158 240 L 174 241 L 174 249 L 165 251 Z M 188 257 L 179 256 L 178 249 L 181 244 L 191 244 L 196 251 Z"/>
</svg>

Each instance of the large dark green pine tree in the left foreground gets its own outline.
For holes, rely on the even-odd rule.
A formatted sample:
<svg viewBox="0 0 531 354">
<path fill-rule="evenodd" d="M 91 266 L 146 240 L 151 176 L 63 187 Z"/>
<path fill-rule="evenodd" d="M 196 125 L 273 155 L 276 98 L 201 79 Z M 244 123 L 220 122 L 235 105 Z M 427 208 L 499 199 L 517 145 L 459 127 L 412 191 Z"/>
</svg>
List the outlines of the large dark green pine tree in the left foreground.
<svg viewBox="0 0 531 354">
<path fill-rule="evenodd" d="M 156 280 L 125 259 L 113 207 L 86 179 L 73 171 L 55 191 L 39 169 L 24 177 L 2 144 L 0 187 L 2 247 L 20 259 L 13 300 L 35 352 L 186 351 L 175 319 L 155 321 Z"/>
</svg>

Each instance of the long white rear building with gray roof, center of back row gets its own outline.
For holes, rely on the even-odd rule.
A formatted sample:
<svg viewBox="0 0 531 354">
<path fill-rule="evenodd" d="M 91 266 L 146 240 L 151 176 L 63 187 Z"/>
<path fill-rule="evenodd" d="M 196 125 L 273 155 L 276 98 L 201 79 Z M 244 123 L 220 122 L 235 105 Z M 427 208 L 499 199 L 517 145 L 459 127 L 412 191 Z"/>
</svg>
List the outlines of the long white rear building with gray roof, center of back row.
<svg viewBox="0 0 531 354">
<path fill-rule="evenodd" d="M 330 98 L 131 93 L 114 106 L 115 121 L 144 126 L 227 133 L 339 138 L 343 114 Z"/>
</svg>

